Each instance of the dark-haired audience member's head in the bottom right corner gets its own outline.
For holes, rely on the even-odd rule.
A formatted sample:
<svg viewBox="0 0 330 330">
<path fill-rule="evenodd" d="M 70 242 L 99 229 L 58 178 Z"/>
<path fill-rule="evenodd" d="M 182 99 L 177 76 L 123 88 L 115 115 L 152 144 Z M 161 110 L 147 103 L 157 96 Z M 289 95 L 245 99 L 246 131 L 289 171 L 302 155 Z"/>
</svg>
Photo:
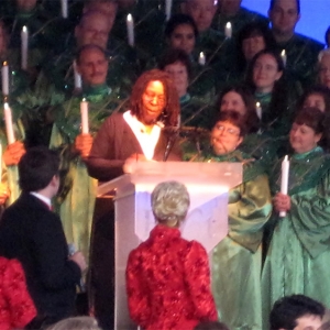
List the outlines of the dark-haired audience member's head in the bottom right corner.
<svg viewBox="0 0 330 330">
<path fill-rule="evenodd" d="M 319 330 L 324 306 L 304 295 L 286 296 L 278 299 L 270 315 L 271 330 Z"/>
</svg>

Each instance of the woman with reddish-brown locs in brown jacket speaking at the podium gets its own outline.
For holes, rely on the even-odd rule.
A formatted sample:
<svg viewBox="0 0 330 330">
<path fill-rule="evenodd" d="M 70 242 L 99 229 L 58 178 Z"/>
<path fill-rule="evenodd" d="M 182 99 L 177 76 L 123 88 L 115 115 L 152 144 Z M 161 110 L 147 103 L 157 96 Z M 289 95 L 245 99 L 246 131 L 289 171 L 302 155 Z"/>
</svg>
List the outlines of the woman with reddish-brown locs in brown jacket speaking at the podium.
<svg viewBox="0 0 330 330">
<path fill-rule="evenodd" d="M 178 95 L 169 76 L 158 69 L 136 80 L 124 113 L 113 113 L 100 128 L 87 161 L 89 175 L 107 182 L 123 174 L 127 160 L 180 161 L 176 143 Z"/>
</svg>

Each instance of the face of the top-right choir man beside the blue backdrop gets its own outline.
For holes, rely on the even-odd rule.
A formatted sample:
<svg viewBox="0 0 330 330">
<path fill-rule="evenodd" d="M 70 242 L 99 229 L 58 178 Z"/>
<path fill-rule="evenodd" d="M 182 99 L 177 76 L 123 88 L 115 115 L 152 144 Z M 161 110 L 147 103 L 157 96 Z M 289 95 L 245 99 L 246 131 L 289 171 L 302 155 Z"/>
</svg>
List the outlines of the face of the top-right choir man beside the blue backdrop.
<svg viewBox="0 0 330 330">
<path fill-rule="evenodd" d="M 297 0 L 276 0 L 273 9 L 268 11 L 268 16 L 276 33 L 293 33 L 300 19 Z"/>
</svg>

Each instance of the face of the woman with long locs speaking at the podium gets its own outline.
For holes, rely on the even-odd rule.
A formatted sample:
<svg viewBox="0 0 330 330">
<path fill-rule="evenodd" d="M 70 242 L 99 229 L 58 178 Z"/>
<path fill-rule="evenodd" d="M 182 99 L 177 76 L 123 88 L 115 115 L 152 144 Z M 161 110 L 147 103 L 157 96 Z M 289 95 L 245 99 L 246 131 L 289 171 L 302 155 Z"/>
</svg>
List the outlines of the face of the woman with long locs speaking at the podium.
<svg viewBox="0 0 330 330">
<path fill-rule="evenodd" d="M 145 124 L 154 123 L 166 107 L 166 95 L 163 82 L 150 81 L 142 95 L 142 121 Z"/>
</svg>

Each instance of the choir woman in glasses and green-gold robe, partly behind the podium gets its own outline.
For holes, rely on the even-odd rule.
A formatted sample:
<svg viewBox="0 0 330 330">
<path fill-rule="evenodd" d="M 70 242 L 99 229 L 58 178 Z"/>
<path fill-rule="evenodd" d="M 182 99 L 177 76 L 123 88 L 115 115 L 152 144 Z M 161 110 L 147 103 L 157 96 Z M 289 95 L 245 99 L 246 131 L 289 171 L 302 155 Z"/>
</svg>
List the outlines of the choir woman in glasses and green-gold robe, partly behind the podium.
<svg viewBox="0 0 330 330">
<path fill-rule="evenodd" d="M 212 251 L 212 292 L 219 319 L 230 329 L 262 329 L 261 268 L 264 224 L 272 213 L 268 178 L 261 162 L 240 151 L 244 118 L 222 111 L 204 162 L 242 162 L 243 182 L 229 191 L 228 235 Z"/>
</svg>

